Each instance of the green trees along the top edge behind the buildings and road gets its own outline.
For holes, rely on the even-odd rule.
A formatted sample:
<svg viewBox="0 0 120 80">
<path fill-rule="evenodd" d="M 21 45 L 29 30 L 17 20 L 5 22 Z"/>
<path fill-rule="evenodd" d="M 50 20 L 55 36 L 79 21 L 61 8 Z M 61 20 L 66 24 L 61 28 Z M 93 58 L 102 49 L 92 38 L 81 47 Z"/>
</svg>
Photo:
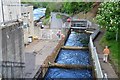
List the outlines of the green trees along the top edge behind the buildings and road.
<svg viewBox="0 0 120 80">
<path fill-rule="evenodd" d="M 23 0 L 24 1 L 24 0 Z M 68 14 L 75 14 L 84 11 L 88 12 L 93 3 L 92 2 L 22 2 L 25 4 L 32 4 L 34 8 L 44 7 L 49 8 L 50 12 L 63 12 Z"/>
</svg>

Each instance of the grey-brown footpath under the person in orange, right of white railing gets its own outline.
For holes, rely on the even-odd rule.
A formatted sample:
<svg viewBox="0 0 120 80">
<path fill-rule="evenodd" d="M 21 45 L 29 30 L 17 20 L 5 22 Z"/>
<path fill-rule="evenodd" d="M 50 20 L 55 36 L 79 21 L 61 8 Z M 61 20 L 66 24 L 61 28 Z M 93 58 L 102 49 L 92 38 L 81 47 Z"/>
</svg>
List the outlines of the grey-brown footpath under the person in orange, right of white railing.
<svg viewBox="0 0 120 80">
<path fill-rule="evenodd" d="M 97 52 L 98 52 L 98 56 L 99 56 L 99 60 L 100 60 L 100 64 L 101 64 L 103 72 L 107 73 L 108 80 L 109 79 L 116 80 L 118 78 L 118 76 L 116 75 L 114 69 L 112 68 L 112 65 L 109 62 L 108 63 L 103 62 L 103 53 L 102 53 L 103 47 L 101 47 L 99 45 L 99 41 L 103 35 L 104 35 L 104 31 L 101 31 L 100 34 L 98 35 L 98 37 L 95 39 L 94 44 L 95 44 Z"/>
</svg>

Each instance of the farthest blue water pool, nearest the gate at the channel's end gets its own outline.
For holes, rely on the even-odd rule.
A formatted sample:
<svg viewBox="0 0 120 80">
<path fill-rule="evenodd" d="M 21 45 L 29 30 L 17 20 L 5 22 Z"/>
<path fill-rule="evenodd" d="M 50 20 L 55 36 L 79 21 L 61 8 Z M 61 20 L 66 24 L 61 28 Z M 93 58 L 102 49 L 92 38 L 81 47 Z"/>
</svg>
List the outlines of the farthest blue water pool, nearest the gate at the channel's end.
<svg viewBox="0 0 120 80">
<path fill-rule="evenodd" d="M 88 46 L 88 42 L 89 42 L 89 34 L 71 32 L 65 43 L 65 46 L 84 47 L 84 46 Z"/>
</svg>

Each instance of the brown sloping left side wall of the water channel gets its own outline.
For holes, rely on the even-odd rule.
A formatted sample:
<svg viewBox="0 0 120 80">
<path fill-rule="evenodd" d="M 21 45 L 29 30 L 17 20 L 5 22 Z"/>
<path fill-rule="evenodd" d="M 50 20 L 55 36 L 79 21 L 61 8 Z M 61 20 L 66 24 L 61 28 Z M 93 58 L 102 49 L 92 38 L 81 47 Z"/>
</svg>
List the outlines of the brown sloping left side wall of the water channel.
<svg viewBox="0 0 120 80">
<path fill-rule="evenodd" d="M 66 31 L 67 34 L 70 34 L 70 30 L 68 29 Z M 36 73 L 36 75 L 34 76 L 34 78 L 43 78 L 49 68 L 49 62 L 54 62 L 61 47 L 64 45 L 66 39 L 68 38 L 68 35 L 65 36 L 65 38 L 61 38 L 61 40 L 58 42 L 57 46 L 55 47 L 55 49 L 53 50 L 53 52 L 51 53 L 51 55 L 49 55 L 46 60 L 44 61 L 44 63 L 41 65 L 39 71 Z"/>
</svg>

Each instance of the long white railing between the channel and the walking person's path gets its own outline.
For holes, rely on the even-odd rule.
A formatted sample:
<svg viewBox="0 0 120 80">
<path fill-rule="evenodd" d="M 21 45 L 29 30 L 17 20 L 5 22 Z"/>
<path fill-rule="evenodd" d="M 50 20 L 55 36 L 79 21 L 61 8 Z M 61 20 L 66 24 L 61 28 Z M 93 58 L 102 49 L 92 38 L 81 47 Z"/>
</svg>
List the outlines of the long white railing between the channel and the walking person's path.
<svg viewBox="0 0 120 80">
<path fill-rule="evenodd" d="M 89 48 L 90 48 L 91 53 L 92 53 L 92 58 L 93 58 L 93 61 L 94 61 L 97 78 L 103 78 L 104 76 L 103 76 L 101 65 L 100 65 L 100 62 L 99 62 L 99 59 L 98 59 L 98 54 L 97 54 L 97 51 L 96 51 L 96 47 L 94 47 L 94 44 L 93 44 L 93 39 L 95 38 L 95 35 L 97 35 L 97 33 L 96 34 L 93 33 L 90 36 Z"/>
</svg>

